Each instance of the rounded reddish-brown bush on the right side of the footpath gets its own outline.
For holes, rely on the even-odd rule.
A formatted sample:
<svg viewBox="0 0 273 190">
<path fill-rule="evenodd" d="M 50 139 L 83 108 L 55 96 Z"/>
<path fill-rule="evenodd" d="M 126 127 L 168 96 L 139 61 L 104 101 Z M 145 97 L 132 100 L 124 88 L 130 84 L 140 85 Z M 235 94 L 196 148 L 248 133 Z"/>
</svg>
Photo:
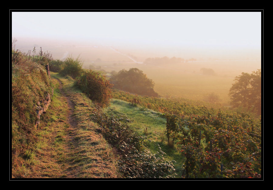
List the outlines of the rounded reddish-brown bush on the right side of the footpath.
<svg viewBox="0 0 273 190">
<path fill-rule="evenodd" d="M 105 76 L 95 71 L 83 71 L 76 84 L 92 101 L 102 107 L 109 105 L 112 98 L 112 84 Z"/>
</svg>

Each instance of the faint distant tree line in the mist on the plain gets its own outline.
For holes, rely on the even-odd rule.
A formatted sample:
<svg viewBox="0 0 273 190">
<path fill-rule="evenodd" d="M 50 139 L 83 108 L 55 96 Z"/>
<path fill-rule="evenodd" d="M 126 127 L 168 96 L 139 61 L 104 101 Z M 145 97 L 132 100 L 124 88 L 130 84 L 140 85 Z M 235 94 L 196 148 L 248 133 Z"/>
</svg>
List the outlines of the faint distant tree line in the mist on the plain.
<svg viewBox="0 0 273 190">
<path fill-rule="evenodd" d="M 155 57 L 155 58 L 147 58 L 143 63 L 144 64 L 173 64 L 173 63 L 182 63 L 182 62 L 188 62 L 188 61 L 196 61 L 196 59 L 191 58 L 191 59 L 183 59 L 183 58 L 176 58 L 176 57 Z"/>
</svg>

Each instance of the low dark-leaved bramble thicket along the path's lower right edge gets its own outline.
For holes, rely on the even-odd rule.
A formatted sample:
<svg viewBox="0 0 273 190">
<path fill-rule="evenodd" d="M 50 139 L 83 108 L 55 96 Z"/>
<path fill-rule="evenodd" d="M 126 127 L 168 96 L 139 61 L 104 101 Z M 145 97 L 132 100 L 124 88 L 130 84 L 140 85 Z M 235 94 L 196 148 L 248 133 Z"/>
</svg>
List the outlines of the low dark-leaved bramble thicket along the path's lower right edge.
<svg viewBox="0 0 273 190">
<path fill-rule="evenodd" d="M 164 153 L 158 144 L 156 154 L 152 153 L 145 142 L 150 141 L 145 136 L 137 135 L 130 128 L 130 119 L 124 116 L 107 117 L 97 107 L 92 111 L 91 118 L 98 123 L 104 138 L 116 148 L 119 153 L 119 171 L 126 178 L 175 178 L 172 161 L 164 160 Z M 151 141 L 154 143 L 154 141 Z"/>
</svg>

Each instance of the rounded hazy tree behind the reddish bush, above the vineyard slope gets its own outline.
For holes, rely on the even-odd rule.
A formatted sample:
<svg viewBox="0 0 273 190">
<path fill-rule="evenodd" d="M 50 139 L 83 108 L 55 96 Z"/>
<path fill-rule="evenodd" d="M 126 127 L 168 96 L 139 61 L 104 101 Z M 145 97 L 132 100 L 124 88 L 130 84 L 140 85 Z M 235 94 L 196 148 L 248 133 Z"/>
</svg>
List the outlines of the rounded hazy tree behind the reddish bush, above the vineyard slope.
<svg viewBox="0 0 273 190">
<path fill-rule="evenodd" d="M 136 93 L 139 95 L 148 95 L 158 97 L 154 92 L 154 81 L 147 78 L 147 75 L 138 68 L 131 68 L 129 71 L 123 69 L 112 77 L 114 88 Z"/>
</svg>

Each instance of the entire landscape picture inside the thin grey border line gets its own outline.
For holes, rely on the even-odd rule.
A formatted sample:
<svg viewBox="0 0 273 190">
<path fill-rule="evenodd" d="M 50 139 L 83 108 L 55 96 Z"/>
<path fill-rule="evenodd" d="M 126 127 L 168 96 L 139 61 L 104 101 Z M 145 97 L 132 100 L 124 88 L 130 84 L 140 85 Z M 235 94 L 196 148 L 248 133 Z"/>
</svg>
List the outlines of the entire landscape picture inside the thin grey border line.
<svg viewBox="0 0 273 190">
<path fill-rule="evenodd" d="M 263 180 L 263 10 L 29 11 L 10 180 Z"/>
</svg>

